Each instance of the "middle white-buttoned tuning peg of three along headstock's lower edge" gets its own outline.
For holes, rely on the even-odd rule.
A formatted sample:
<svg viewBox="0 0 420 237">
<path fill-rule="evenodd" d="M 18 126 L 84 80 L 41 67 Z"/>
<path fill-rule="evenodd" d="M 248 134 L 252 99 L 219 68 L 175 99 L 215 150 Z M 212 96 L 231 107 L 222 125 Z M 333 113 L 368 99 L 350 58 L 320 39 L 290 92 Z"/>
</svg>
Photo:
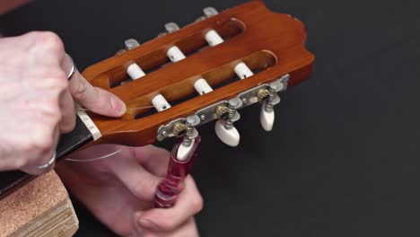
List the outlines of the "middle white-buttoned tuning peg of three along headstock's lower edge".
<svg viewBox="0 0 420 237">
<path fill-rule="evenodd" d="M 219 118 L 215 123 L 215 133 L 226 145 L 237 146 L 241 140 L 238 129 L 233 126 L 233 122 L 239 120 L 241 115 L 237 111 L 242 106 L 242 101 L 234 98 L 229 101 L 227 106 L 219 106 L 216 109 L 216 117 Z"/>
</svg>

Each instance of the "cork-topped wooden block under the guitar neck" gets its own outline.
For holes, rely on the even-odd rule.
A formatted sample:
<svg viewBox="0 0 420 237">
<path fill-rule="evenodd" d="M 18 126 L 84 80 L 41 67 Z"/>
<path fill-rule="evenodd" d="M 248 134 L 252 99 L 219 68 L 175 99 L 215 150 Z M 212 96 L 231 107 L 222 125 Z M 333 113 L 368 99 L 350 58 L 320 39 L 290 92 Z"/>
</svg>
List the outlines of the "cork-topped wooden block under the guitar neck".
<svg viewBox="0 0 420 237">
<path fill-rule="evenodd" d="M 79 221 L 55 171 L 0 200 L 0 237 L 72 236 Z"/>
</svg>

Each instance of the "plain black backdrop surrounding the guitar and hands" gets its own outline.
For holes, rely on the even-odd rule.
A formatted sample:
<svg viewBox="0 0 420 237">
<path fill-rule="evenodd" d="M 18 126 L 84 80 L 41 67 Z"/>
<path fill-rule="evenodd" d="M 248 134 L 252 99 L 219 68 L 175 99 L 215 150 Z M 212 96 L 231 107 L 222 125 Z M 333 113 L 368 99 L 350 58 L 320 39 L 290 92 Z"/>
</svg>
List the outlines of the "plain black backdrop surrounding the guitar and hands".
<svg viewBox="0 0 420 237">
<path fill-rule="evenodd" d="M 243 1 L 39 0 L 2 16 L 4 35 L 56 31 L 80 68 L 166 22 Z M 195 171 L 203 236 L 420 234 L 420 2 L 266 1 L 305 23 L 311 80 L 283 95 L 274 131 L 257 106 L 241 112 L 241 145 L 200 127 Z M 79 203 L 77 236 L 112 235 Z"/>
</svg>

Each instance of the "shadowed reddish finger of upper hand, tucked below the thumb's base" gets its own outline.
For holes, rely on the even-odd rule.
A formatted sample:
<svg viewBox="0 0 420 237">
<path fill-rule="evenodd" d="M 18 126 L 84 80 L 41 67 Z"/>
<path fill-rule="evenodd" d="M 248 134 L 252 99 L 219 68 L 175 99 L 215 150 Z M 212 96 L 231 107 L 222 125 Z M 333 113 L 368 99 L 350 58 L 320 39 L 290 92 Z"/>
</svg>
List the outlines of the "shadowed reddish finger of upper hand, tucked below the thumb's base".
<svg viewBox="0 0 420 237">
<path fill-rule="evenodd" d="M 59 106 L 62 111 L 62 118 L 58 124 L 60 133 L 71 132 L 75 126 L 74 101 L 70 92 L 60 94 Z"/>
</svg>

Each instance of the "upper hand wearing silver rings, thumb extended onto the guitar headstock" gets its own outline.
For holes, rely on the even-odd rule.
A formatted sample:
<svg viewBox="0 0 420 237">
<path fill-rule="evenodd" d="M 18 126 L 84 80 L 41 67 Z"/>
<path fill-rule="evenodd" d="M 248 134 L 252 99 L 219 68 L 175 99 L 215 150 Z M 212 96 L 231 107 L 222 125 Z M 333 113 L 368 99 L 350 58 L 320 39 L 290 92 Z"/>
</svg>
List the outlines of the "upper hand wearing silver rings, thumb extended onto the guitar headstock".
<svg viewBox="0 0 420 237">
<path fill-rule="evenodd" d="M 58 136 L 74 128 L 74 101 L 101 115 L 126 112 L 123 101 L 77 70 L 69 82 L 70 63 L 52 32 L 0 39 L 0 171 L 43 172 L 36 166 L 47 163 Z"/>
</svg>

